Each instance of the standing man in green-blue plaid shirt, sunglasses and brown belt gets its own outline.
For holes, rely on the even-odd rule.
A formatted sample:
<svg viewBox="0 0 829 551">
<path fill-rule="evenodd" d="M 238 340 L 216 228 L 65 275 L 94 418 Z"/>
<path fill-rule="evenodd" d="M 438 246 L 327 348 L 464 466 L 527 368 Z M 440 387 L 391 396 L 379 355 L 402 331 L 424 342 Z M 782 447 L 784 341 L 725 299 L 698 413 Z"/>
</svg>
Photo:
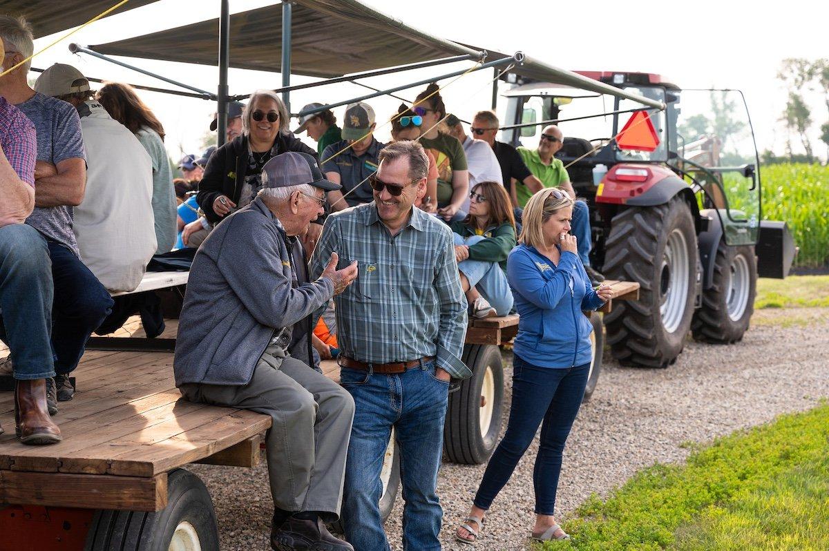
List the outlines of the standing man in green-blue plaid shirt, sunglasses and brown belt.
<svg viewBox="0 0 829 551">
<path fill-rule="evenodd" d="M 452 232 L 414 202 L 429 159 L 414 142 L 385 147 L 371 178 L 374 201 L 328 217 L 311 261 L 313 278 L 332 251 L 358 263 L 356 283 L 335 297 L 341 382 L 356 414 L 342 507 L 357 551 L 389 549 L 378 502 L 392 428 L 400 446 L 405 549 L 440 549 L 436 486 L 450 377 L 472 375 L 460 359 L 467 302 Z"/>
</svg>

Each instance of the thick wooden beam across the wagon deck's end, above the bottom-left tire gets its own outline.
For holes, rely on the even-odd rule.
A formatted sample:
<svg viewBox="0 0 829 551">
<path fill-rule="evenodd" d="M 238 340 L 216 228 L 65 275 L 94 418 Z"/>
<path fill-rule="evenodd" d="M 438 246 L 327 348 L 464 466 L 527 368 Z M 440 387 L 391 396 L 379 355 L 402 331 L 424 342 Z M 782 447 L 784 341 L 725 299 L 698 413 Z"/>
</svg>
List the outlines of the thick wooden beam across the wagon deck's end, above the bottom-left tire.
<svg viewBox="0 0 829 551">
<path fill-rule="evenodd" d="M 158 511 L 167 506 L 167 473 L 138 478 L 0 471 L 0 503 Z"/>
</svg>

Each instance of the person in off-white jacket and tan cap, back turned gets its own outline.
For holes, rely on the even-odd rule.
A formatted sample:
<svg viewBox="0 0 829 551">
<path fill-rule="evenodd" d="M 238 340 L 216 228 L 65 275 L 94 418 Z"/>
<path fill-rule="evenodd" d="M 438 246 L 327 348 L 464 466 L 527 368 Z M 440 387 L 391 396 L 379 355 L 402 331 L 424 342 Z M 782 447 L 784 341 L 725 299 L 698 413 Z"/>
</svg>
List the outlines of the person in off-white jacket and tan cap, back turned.
<svg viewBox="0 0 829 551">
<path fill-rule="evenodd" d="M 132 132 L 91 100 L 89 80 L 56 63 L 37 79 L 41 94 L 80 114 L 88 167 L 72 230 L 80 259 L 110 292 L 133 291 L 156 251 L 153 161 Z"/>
</svg>

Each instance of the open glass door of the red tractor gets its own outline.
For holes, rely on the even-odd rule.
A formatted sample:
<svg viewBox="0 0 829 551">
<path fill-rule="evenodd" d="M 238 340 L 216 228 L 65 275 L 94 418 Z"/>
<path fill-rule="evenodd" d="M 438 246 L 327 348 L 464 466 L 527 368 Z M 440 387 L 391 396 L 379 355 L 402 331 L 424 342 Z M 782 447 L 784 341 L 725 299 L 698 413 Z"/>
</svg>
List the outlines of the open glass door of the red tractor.
<svg viewBox="0 0 829 551">
<path fill-rule="evenodd" d="M 682 90 L 679 95 L 672 105 L 676 166 L 700 184 L 702 207 L 720 211 L 726 243 L 754 243 L 760 220 L 759 160 L 742 92 Z"/>
</svg>

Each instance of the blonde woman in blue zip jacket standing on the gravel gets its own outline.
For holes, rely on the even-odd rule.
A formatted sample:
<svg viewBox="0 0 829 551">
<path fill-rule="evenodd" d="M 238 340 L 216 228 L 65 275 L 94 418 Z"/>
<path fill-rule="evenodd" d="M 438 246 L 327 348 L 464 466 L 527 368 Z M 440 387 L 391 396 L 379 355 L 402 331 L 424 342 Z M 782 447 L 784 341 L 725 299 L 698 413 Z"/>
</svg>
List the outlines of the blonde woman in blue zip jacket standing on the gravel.
<svg viewBox="0 0 829 551">
<path fill-rule="evenodd" d="M 610 288 L 595 290 L 568 234 L 573 200 L 560 188 L 532 196 L 524 209 L 519 244 L 507 259 L 507 280 L 521 318 L 512 362 L 512 405 L 507 433 L 483 475 L 473 508 L 456 533 L 471 544 L 492 500 L 507 484 L 541 424 L 533 471 L 536 525 L 541 541 L 570 536 L 555 522 L 561 457 L 584 397 L 590 369 L 592 326 L 582 313 L 601 307 Z"/>
</svg>

